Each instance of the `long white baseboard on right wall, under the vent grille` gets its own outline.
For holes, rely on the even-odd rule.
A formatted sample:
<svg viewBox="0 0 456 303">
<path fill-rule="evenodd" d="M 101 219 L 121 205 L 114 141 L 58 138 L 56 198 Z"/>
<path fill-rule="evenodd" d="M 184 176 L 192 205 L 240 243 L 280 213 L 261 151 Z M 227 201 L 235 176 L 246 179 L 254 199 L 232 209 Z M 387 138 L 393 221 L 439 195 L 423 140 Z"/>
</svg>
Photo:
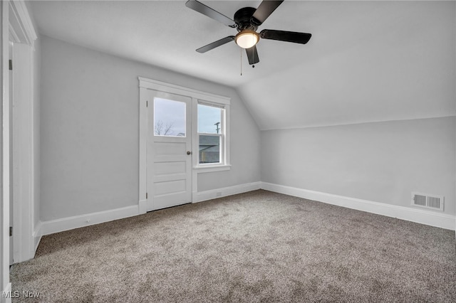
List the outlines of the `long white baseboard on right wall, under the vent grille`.
<svg viewBox="0 0 456 303">
<path fill-rule="evenodd" d="M 394 206 L 386 203 L 337 196 L 331 193 L 309 191 L 307 189 L 271 184 L 267 182 L 261 182 L 261 188 L 265 189 L 266 191 L 284 193 L 289 196 L 296 196 L 299 198 L 306 198 L 309 200 L 333 204 L 336 206 L 343 206 L 346 208 L 356 209 L 357 211 L 366 211 L 368 213 L 375 213 L 382 216 L 408 220 L 415 223 L 431 225 L 449 230 L 456 230 L 456 216 L 447 215 L 445 213 L 435 213 L 433 211 L 425 211 L 422 209 Z"/>
</svg>

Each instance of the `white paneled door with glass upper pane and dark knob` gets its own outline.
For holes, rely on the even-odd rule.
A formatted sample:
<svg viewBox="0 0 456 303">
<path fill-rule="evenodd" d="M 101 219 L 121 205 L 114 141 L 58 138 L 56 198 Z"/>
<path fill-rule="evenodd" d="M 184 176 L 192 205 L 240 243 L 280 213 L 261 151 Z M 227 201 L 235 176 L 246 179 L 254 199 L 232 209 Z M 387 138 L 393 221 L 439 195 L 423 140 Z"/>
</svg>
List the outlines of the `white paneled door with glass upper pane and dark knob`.
<svg viewBox="0 0 456 303">
<path fill-rule="evenodd" d="M 192 202 L 192 98 L 147 92 L 147 211 L 154 211 Z"/>
</svg>

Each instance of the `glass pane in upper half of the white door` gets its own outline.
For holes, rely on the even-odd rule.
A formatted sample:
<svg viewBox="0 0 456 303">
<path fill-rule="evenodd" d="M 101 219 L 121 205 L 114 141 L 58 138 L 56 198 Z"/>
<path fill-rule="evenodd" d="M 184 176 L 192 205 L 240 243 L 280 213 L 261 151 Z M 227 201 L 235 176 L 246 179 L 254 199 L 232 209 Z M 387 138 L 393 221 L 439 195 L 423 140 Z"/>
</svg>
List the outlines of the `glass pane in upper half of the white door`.
<svg viewBox="0 0 456 303">
<path fill-rule="evenodd" d="M 155 136 L 185 137 L 185 133 L 185 103 L 155 98 Z"/>
</svg>

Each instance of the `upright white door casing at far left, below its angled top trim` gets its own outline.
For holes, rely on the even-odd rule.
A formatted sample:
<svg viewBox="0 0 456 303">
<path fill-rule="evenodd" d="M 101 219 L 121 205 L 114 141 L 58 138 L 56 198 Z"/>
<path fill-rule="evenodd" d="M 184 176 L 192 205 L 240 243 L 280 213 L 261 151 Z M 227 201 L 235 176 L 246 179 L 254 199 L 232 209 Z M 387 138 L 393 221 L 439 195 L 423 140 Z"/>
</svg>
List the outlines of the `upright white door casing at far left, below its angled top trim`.
<svg viewBox="0 0 456 303">
<path fill-rule="evenodd" d="M 33 158 L 33 50 L 24 43 L 13 48 L 13 259 L 30 260 L 33 250 L 34 158 Z"/>
</svg>

